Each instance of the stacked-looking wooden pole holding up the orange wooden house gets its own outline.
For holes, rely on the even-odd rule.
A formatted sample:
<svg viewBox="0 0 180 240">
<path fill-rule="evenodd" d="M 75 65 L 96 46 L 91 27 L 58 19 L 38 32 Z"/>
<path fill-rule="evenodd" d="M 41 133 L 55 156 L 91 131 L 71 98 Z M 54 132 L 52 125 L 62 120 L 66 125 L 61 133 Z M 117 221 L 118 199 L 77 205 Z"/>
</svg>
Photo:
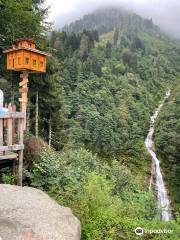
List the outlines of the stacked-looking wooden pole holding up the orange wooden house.
<svg viewBox="0 0 180 240">
<path fill-rule="evenodd" d="M 27 111 L 27 94 L 28 94 L 28 72 L 23 71 L 23 73 L 20 75 L 20 78 L 22 81 L 19 83 L 19 92 L 21 93 L 21 98 L 19 98 L 20 106 L 21 106 L 21 112 L 25 113 L 25 119 L 24 119 L 24 130 L 26 129 L 26 111 Z"/>
</svg>

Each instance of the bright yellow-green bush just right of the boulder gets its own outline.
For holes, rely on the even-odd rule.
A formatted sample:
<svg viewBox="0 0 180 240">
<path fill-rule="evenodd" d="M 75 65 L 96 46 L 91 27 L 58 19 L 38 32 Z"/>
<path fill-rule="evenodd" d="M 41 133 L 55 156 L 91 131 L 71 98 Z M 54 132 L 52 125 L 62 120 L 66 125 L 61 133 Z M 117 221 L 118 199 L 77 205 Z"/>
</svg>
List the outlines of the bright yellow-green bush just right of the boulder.
<svg viewBox="0 0 180 240">
<path fill-rule="evenodd" d="M 88 181 L 77 196 L 78 215 L 83 223 L 82 239 L 118 239 L 121 201 L 112 196 L 113 183 L 104 176 L 90 174 Z"/>
</svg>

